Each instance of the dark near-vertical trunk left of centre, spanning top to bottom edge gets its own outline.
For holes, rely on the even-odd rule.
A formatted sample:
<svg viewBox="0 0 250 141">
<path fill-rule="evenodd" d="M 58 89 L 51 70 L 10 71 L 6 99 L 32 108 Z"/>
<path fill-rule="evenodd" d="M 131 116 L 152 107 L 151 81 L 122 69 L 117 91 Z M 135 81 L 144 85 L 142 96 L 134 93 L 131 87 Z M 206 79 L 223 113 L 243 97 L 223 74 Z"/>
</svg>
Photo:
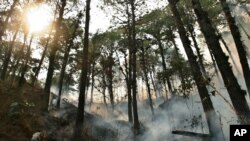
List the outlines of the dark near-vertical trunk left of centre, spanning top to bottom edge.
<svg viewBox="0 0 250 141">
<path fill-rule="evenodd" d="M 80 93 L 78 98 L 78 109 L 76 124 L 74 129 L 74 135 L 72 141 L 81 140 L 81 131 L 83 128 L 84 121 L 84 107 L 85 107 L 85 91 L 87 86 L 88 68 L 89 68 L 89 21 L 90 21 L 90 2 L 91 0 L 86 0 L 86 15 L 85 15 L 85 28 L 84 28 L 84 48 L 83 48 L 83 58 L 82 58 L 82 68 L 80 76 Z"/>
</svg>

